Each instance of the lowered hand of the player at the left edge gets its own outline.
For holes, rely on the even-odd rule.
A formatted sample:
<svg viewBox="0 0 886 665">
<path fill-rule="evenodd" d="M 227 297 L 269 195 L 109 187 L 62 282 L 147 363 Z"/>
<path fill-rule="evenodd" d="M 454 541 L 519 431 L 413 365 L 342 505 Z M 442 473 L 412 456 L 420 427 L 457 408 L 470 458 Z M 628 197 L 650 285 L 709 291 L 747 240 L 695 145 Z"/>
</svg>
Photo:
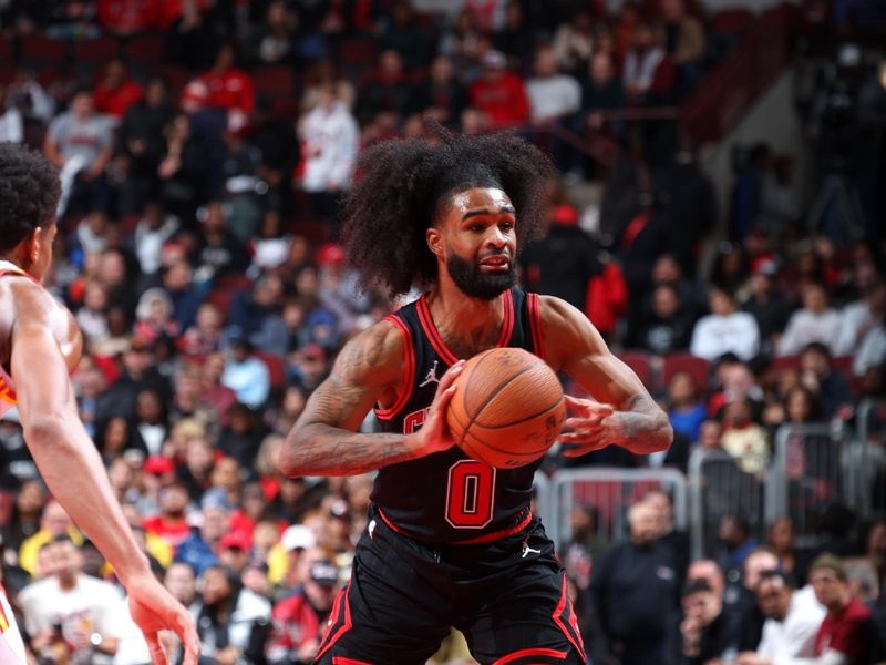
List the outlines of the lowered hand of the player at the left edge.
<svg viewBox="0 0 886 665">
<path fill-rule="evenodd" d="M 197 665 L 200 641 L 194 620 L 151 573 L 128 580 L 130 614 L 144 633 L 151 651 L 153 665 L 167 665 L 166 653 L 161 645 L 159 631 L 173 631 L 185 647 L 183 665 Z"/>
</svg>

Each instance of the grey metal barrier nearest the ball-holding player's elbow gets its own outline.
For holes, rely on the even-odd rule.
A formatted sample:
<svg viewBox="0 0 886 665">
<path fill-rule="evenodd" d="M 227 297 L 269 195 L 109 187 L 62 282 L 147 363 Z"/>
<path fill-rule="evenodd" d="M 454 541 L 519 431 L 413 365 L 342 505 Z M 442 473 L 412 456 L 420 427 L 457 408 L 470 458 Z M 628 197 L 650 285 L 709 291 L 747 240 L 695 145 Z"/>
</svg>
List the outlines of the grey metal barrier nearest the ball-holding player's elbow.
<svg viewBox="0 0 886 665">
<path fill-rule="evenodd" d="M 576 505 L 597 511 L 597 533 L 616 543 L 628 535 L 628 508 L 650 490 L 663 489 L 673 498 L 677 529 L 688 524 L 686 478 L 674 469 L 589 468 L 557 471 L 550 479 L 547 533 L 559 546 L 571 536 L 570 513 Z"/>
</svg>

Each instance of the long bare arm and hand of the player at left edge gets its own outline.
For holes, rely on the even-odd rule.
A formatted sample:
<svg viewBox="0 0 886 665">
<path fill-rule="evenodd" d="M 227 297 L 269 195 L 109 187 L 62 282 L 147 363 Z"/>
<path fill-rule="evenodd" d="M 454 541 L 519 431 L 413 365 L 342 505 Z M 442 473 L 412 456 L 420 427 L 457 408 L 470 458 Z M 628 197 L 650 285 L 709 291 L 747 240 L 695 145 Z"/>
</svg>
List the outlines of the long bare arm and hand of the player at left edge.
<svg viewBox="0 0 886 665">
<path fill-rule="evenodd" d="M 52 495 L 130 592 L 130 611 L 145 634 L 153 663 L 166 662 L 157 632 L 169 628 L 186 645 L 185 663 L 194 664 L 199 652 L 194 624 L 151 572 L 80 421 L 68 366 L 52 334 L 58 308 L 37 285 L 22 280 L 19 288 L 10 369 L 31 456 Z"/>
</svg>

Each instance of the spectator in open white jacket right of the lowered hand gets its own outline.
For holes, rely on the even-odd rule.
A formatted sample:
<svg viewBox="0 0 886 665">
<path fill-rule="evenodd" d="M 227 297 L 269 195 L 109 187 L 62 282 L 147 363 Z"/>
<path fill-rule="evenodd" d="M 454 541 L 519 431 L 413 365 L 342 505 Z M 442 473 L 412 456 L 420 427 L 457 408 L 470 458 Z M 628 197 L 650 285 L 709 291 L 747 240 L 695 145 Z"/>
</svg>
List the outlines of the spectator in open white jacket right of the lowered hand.
<svg viewBox="0 0 886 665">
<path fill-rule="evenodd" d="M 204 571 L 195 612 L 204 656 L 219 663 L 261 661 L 271 605 L 241 587 L 224 566 Z"/>
</svg>

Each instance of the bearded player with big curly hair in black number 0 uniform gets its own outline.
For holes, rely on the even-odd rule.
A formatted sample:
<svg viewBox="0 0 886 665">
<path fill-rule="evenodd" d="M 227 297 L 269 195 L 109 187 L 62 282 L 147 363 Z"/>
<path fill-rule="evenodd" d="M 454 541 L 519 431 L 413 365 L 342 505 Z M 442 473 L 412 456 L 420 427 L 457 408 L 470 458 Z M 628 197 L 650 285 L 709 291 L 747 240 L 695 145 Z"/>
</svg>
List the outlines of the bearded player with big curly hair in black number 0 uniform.
<svg viewBox="0 0 886 665">
<path fill-rule="evenodd" d="M 318 663 L 424 663 L 450 626 L 480 663 L 585 663 L 554 545 L 529 508 L 540 462 L 492 469 L 454 447 L 446 405 L 463 361 L 527 349 L 596 400 L 568 398 L 567 454 L 648 453 L 667 416 L 584 314 L 514 288 L 517 247 L 545 215 L 548 161 L 512 135 L 378 144 L 346 205 L 349 258 L 391 296 L 426 293 L 349 341 L 284 447 L 288 475 L 377 470 L 367 531 Z M 382 433 L 356 433 L 371 408 Z"/>
</svg>

